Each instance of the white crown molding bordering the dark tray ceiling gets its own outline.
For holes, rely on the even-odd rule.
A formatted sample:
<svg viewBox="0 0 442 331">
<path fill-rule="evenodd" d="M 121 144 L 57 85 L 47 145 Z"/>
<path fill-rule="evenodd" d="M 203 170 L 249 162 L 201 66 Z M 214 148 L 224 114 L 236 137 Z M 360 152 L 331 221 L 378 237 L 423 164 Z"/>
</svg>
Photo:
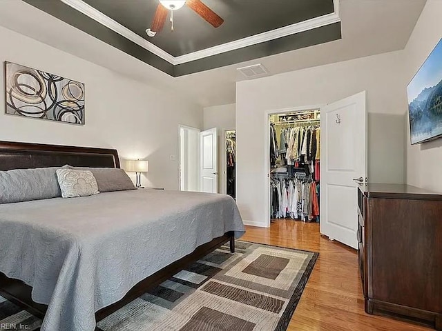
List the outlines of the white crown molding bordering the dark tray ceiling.
<svg viewBox="0 0 442 331">
<path fill-rule="evenodd" d="M 250 37 L 231 41 L 229 43 L 223 43 L 222 45 L 213 46 L 211 48 L 206 48 L 204 50 L 198 50 L 196 52 L 184 54 L 181 55 L 180 57 L 173 57 L 173 55 L 162 50 L 162 48 L 155 46 L 153 43 L 147 41 L 143 37 L 140 37 L 132 30 L 129 30 L 125 26 L 122 26 L 122 24 L 111 19 L 111 17 L 106 16 L 105 14 L 93 8 L 92 6 L 88 5 L 88 3 L 82 0 L 60 0 L 60 1 L 65 3 L 67 6 L 70 6 L 71 8 L 78 10 L 82 14 L 85 14 L 86 16 L 90 17 L 90 19 L 93 19 L 98 23 L 102 24 L 103 26 L 106 26 L 106 28 L 109 28 L 114 32 L 117 32 L 126 39 L 132 41 L 133 43 L 136 43 L 138 46 L 141 46 L 145 50 L 148 50 L 149 52 L 152 52 L 158 57 L 161 57 L 162 59 L 168 61 L 174 66 L 182 63 L 195 61 L 198 59 L 203 59 L 204 57 L 211 57 L 216 54 L 222 54 L 224 52 L 238 50 L 240 48 L 244 48 L 247 46 L 253 46 L 258 43 L 264 43 L 266 41 L 271 41 L 273 39 L 287 37 L 291 34 L 296 34 L 307 30 L 320 28 L 321 26 L 327 26 L 329 24 L 340 22 L 339 0 L 333 0 L 334 12 L 330 14 L 326 14 L 320 17 L 314 17 L 313 19 L 309 19 L 307 21 L 302 21 L 291 24 L 290 26 L 284 26 L 282 28 L 278 28 L 275 30 L 262 32 L 260 34 L 255 34 Z"/>
</svg>

